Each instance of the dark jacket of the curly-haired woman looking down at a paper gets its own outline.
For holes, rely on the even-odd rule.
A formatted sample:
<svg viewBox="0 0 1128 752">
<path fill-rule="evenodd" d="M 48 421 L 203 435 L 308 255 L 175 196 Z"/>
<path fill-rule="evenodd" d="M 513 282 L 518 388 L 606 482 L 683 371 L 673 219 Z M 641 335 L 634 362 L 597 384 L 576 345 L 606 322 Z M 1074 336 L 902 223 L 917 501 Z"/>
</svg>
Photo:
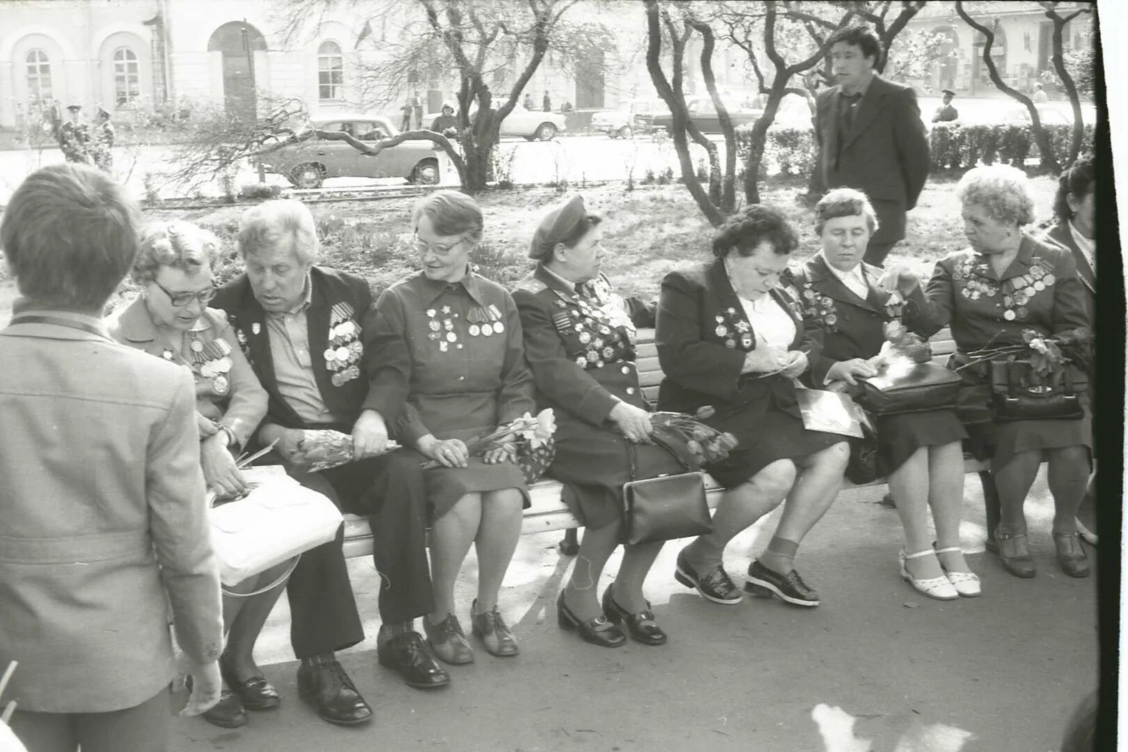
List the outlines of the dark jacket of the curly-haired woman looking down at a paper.
<svg viewBox="0 0 1128 752">
<path fill-rule="evenodd" d="M 770 294 L 795 322 L 791 350 L 805 353 L 813 362 L 822 347 L 822 331 L 804 326 L 799 302 L 783 287 Z M 739 408 L 743 422 L 755 422 L 772 398 L 777 405 L 795 402 L 791 379 L 740 372 L 744 355 L 756 347 L 756 333 L 721 259 L 667 274 L 656 324 L 654 340 L 666 373 L 658 393 L 659 409 L 693 413 L 712 405 L 723 414 Z"/>
</svg>

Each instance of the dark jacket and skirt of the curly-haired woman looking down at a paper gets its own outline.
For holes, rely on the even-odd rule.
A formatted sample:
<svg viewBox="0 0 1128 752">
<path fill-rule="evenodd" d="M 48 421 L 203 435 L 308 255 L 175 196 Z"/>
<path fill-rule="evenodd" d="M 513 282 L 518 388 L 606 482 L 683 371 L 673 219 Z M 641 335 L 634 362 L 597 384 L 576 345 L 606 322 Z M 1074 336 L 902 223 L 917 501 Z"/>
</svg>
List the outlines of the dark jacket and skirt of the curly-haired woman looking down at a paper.
<svg viewBox="0 0 1128 752">
<path fill-rule="evenodd" d="M 787 291 L 776 287 L 770 295 L 795 324 L 790 350 L 812 361 L 821 350 L 822 331 L 804 325 L 799 303 Z M 739 486 L 776 460 L 807 457 L 846 441 L 803 427 L 790 378 L 740 372 L 744 355 L 756 347 L 756 333 L 721 259 L 666 275 L 656 329 L 666 373 L 659 409 L 694 413 L 710 405 L 716 413 L 705 423 L 739 442 L 726 460 L 706 468 L 725 488 Z"/>
</svg>

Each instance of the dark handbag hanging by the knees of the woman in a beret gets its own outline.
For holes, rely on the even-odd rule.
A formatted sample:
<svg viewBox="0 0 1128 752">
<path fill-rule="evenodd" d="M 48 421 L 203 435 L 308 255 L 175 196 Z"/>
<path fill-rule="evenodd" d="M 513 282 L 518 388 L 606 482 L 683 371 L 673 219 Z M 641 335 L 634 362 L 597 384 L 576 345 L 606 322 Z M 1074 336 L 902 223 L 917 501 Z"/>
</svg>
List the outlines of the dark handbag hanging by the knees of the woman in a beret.
<svg viewBox="0 0 1128 752">
<path fill-rule="evenodd" d="M 635 448 L 627 443 L 631 480 L 623 484 L 623 540 L 628 546 L 713 531 L 702 474 L 663 441 L 654 441 L 673 454 L 687 472 L 637 479 Z"/>
</svg>

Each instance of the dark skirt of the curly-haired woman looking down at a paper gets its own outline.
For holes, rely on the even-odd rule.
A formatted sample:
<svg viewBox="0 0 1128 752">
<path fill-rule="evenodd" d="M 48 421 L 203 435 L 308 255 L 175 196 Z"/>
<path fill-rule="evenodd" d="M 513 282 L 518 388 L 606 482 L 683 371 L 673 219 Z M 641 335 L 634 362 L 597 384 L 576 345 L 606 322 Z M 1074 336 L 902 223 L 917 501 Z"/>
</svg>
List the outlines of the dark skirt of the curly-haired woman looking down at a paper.
<svg viewBox="0 0 1128 752">
<path fill-rule="evenodd" d="M 734 417 L 726 413 L 720 425 L 713 419 L 705 421 L 721 431 L 730 431 L 740 442 L 724 461 L 705 468 L 725 488 L 735 488 L 776 460 L 799 459 L 847 441 L 836 433 L 808 431 L 802 418 L 775 406 L 768 407 L 755 425 L 734 425 L 739 423 Z"/>
</svg>

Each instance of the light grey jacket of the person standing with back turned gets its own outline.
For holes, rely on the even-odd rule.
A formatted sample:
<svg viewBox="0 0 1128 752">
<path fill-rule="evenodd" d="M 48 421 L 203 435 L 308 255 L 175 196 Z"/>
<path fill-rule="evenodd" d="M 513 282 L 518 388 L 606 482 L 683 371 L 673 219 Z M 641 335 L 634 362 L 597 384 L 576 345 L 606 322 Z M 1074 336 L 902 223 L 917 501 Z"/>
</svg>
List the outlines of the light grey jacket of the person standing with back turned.
<svg viewBox="0 0 1128 752">
<path fill-rule="evenodd" d="M 20 710 L 133 707 L 222 648 L 186 369 L 56 324 L 0 331 L 0 666 Z M 166 593 L 168 595 L 166 600 Z"/>
</svg>

